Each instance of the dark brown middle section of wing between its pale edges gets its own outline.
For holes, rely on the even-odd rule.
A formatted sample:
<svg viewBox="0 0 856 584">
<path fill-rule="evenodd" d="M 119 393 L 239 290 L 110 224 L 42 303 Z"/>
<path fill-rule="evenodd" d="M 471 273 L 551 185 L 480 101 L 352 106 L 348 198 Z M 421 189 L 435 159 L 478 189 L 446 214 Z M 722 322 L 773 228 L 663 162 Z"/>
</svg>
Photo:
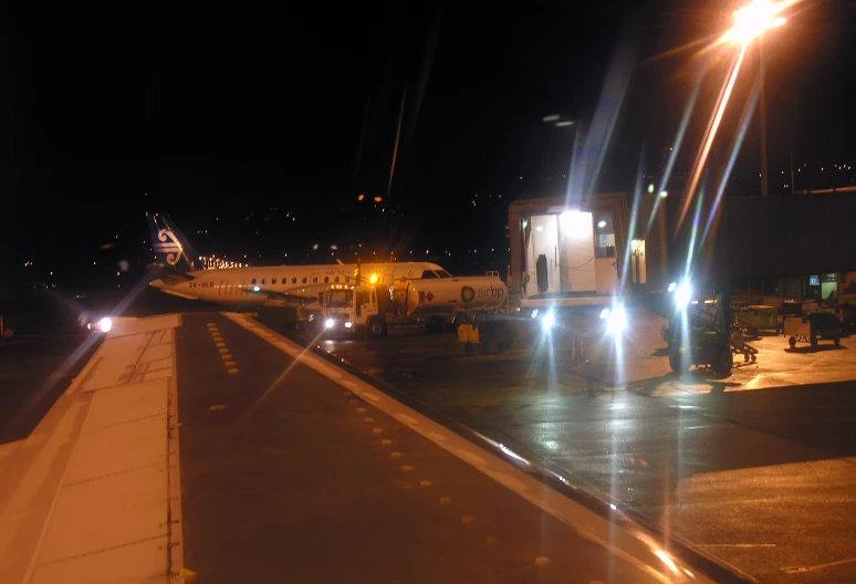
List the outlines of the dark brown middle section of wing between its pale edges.
<svg viewBox="0 0 856 584">
<path fill-rule="evenodd" d="M 195 582 L 653 581 L 234 322 L 176 334 Z"/>
</svg>

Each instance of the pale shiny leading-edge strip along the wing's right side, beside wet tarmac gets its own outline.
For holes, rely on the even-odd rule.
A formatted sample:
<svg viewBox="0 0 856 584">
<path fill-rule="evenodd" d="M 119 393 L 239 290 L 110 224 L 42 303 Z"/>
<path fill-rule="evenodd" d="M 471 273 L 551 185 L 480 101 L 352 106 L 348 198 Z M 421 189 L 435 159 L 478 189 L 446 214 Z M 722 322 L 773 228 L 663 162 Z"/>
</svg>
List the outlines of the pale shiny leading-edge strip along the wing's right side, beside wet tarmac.
<svg viewBox="0 0 856 584">
<path fill-rule="evenodd" d="M 286 355 L 300 361 L 303 365 L 316 371 L 336 384 L 342 385 L 343 379 L 349 379 L 353 385 L 348 384 L 347 387 L 357 396 L 367 400 L 372 400 L 367 396 L 378 396 L 377 389 L 369 384 L 343 372 L 335 365 L 312 354 L 296 343 L 293 343 L 279 334 L 271 333 L 270 330 L 263 327 L 260 323 L 252 321 L 246 315 L 236 313 L 221 314 L 243 328 L 254 333 L 257 336 L 264 338 L 272 346 L 281 348 Z M 265 336 L 261 334 L 262 332 L 267 332 L 271 336 L 265 338 Z M 385 396 L 383 399 L 378 400 L 372 400 L 372 403 L 379 410 L 389 415 L 404 426 L 424 436 L 460 460 L 470 463 L 473 468 L 504 486 L 510 491 L 519 494 L 561 522 L 575 529 L 580 535 L 597 543 L 602 548 L 608 550 L 612 554 L 618 556 L 650 577 L 664 583 L 671 582 L 669 571 L 677 561 L 659 548 L 657 544 L 657 535 L 648 533 L 641 526 L 634 525 L 629 521 L 620 528 L 616 526 L 616 524 L 608 519 L 598 515 L 594 511 L 591 511 L 559 491 L 553 490 L 541 481 L 528 476 L 510 462 L 507 462 L 492 452 L 470 442 L 466 438 L 462 438 L 445 426 L 422 416 L 415 409 L 407 407 L 390 396 Z M 400 452 L 393 452 L 394 459 L 396 458 L 396 455 L 398 455 L 398 457 L 401 456 Z M 476 463 L 473 465 L 473 462 Z M 440 504 L 448 504 L 443 502 L 445 499 L 448 498 L 441 498 Z M 451 499 L 448 499 L 448 502 L 451 502 Z M 697 573 L 695 576 L 697 582 L 711 582 L 703 574 Z"/>
</svg>

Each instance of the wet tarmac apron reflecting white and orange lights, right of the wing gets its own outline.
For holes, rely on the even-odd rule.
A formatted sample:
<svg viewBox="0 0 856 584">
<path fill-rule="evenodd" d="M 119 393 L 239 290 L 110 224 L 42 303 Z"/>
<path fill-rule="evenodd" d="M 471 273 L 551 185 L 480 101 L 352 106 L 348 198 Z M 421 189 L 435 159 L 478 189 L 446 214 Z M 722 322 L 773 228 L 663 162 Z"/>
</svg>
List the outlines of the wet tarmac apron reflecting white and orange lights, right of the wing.
<svg viewBox="0 0 856 584">
<path fill-rule="evenodd" d="M 856 343 L 764 337 L 730 375 L 677 375 L 656 328 L 620 372 L 537 340 L 478 356 L 418 328 L 302 340 L 759 581 L 856 580 Z"/>
</svg>

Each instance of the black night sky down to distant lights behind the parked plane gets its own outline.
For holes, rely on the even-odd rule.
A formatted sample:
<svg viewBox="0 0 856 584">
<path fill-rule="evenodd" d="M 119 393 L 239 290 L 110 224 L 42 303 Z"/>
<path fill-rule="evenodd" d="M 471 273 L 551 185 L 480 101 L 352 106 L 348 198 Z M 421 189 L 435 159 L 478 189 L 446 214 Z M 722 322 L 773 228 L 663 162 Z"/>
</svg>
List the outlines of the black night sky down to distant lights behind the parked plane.
<svg viewBox="0 0 856 584">
<path fill-rule="evenodd" d="M 504 272 L 505 206 L 566 169 L 616 59 L 627 90 L 608 95 L 622 108 L 595 188 L 630 189 L 643 154 L 641 174 L 658 176 L 707 67 L 676 177 L 688 170 L 733 55 L 701 49 L 739 6 L 4 6 L 0 283 L 131 283 L 150 261 L 145 211 L 170 213 L 202 253 L 255 264 L 370 249 Z M 854 184 L 856 3 L 805 1 L 787 15 L 766 41 L 771 192 L 785 190 L 791 145 L 807 165 L 797 189 Z M 577 124 L 555 128 L 549 114 Z M 756 117 L 729 196 L 760 191 Z"/>
</svg>

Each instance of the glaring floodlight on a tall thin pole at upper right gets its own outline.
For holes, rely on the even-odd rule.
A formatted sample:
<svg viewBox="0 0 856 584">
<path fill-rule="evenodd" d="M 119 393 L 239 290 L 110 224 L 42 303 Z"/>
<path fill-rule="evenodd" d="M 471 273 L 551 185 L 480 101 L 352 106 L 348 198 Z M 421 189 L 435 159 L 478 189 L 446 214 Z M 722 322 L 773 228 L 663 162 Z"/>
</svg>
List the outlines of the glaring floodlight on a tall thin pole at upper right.
<svg viewBox="0 0 856 584">
<path fill-rule="evenodd" d="M 758 39 L 761 65 L 759 75 L 761 77 L 761 196 L 766 197 L 768 189 L 766 175 L 766 91 L 764 83 L 764 31 L 781 27 L 785 23 L 785 18 L 781 12 L 791 6 L 792 1 L 771 2 L 770 0 L 755 0 L 734 12 L 734 25 L 725 33 L 724 39 L 743 46 L 748 45 L 754 39 Z"/>
</svg>

